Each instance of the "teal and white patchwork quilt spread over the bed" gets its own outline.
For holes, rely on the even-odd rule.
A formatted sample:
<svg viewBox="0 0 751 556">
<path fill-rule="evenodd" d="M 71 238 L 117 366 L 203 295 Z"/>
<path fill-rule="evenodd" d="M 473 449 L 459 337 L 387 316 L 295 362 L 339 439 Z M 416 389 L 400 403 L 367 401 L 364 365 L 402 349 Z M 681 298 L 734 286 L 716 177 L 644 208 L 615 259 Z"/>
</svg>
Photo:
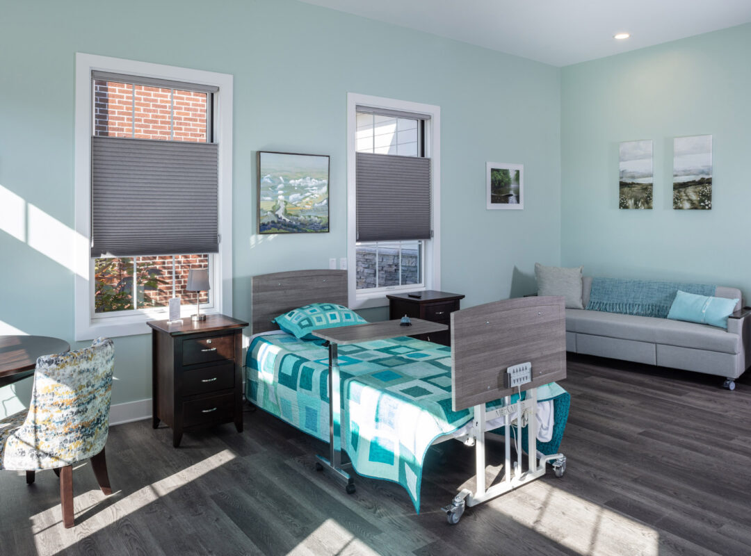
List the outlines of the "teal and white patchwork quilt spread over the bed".
<svg viewBox="0 0 751 556">
<path fill-rule="evenodd" d="M 246 395 L 252 403 L 328 442 L 328 349 L 323 341 L 259 336 L 249 347 L 246 365 Z M 341 345 L 339 373 L 342 448 L 354 470 L 398 482 L 419 512 L 427 449 L 473 415 L 471 409 L 451 410 L 451 348 L 407 337 Z M 553 454 L 566 427 L 569 394 L 552 383 L 538 390 L 538 399 L 555 400 L 553 440 L 538 443 L 541 452 Z"/>
</svg>

